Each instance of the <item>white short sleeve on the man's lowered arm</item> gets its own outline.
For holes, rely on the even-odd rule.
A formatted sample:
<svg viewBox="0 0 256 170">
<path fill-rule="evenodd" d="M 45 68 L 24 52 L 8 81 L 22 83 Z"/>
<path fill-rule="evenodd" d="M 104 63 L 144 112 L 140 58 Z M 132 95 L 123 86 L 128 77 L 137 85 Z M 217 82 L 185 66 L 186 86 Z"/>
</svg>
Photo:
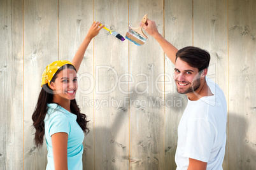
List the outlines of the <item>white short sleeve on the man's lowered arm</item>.
<svg viewBox="0 0 256 170">
<path fill-rule="evenodd" d="M 208 162 L 216 136 L 215 126 L 207 119 L 188 122 L 185 157 Z"/>
</svg>

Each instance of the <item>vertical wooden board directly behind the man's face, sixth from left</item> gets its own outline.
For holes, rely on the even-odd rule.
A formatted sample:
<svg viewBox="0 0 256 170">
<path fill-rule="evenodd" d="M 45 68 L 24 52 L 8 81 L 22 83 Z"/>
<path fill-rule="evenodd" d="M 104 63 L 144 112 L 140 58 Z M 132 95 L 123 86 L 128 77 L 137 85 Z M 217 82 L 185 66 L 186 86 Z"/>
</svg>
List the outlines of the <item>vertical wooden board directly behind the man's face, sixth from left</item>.
<svg viewBox="0 0 256 170">
<path fill-rule="evenodd" d="M 192 1 L 165 1 L 164 32 L 167 41 L 176 48 L 192 46 Z M 182 9 L 182 10 L 181 10 Z M 175 153 L 178 125 L 187 106 L 187 96 L 180 95 L 173 79 L 174 64 L 165 57 L 165 165 L 176 169 Z"/>
</svg>

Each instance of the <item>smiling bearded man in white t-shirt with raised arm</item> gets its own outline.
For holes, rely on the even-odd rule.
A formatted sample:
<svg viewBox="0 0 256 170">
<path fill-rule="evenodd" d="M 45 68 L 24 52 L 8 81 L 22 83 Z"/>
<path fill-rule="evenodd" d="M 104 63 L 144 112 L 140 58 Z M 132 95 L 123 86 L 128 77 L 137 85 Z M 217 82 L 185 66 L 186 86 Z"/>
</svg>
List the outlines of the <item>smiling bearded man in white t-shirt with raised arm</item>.
<svg viewBox="0 0 256 170">
<path fill-rule="evenodd" d="M 141 24 L 175 64 L 177 91 L 188 97 L 178 126 L 177 169 L 222 169 L 227 104 L 222 89 L 206 77 L 210 54 L 192 46 L 178 51 L 159 34 L 155 22 Z"/>
</svg>

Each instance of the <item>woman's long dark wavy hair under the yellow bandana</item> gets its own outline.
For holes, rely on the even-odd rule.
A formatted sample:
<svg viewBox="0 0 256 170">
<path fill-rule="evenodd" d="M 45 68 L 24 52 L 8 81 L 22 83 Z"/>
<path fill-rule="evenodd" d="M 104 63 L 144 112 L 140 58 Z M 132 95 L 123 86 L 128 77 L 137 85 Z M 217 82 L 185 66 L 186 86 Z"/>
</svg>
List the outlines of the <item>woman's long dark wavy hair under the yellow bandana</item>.
<svg viewBox="0 0 256 170">
<path fill-rule="evenodd" d="M 55 82 L 55 79 L 59 72 L 64 69 L 75 69 L 73 65 L 67 64 L 60 67 L 59 70 L 55 73 L 55 75 L 52 77 L 52 82 Z M 53 91 L 49 88 L 48 84 L 43 84 L 42 89 L 40 91 L 39 97 L 38 97 L 38 103 L 36 104 L 36 108 L 34 109 L 34 112 L 32 114 L 32 120 L 34 129 L 36 129 L 36 133 L 34 133 L 34 141 L 36 144 L 36 147 L 41 147 L 43 145 L 43 136 L 45 135 L 45 115 L 47 113 L 48 107 L 47 103 L 52 103 L 53 100 Z M 89 133 L 89 129 L 87 128 L 87 117 L 85 114 L 82 114 L 80 112 L 80 108 L 76 104 L 76 100 L 70 101 L 70 109 L 71 113 L 75 114 L 77 116 L 76 122 L 78 122 L 79 126 L 82 128 L 85 134 Z"/>
</svg>

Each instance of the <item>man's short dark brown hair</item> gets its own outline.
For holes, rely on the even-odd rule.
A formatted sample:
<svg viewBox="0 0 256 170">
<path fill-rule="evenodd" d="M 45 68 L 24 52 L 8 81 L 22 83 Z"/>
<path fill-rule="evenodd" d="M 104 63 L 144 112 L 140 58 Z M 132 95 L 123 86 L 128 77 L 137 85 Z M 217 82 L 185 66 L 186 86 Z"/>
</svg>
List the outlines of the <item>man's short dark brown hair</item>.
<svg viewBox="0 0 256 170">
<path fill-rule="evenodd" d="M 204 69 L 208 69 L 211 59 L 210 53 L 208 51 L 194 46 L 187 46 L 180 49 L 176 53 L 175 62 L 178 57 L 183 62 L 188 63 L 190 67 L 197 68 L 198 72 L 201 72 Z"/>
</svg>

